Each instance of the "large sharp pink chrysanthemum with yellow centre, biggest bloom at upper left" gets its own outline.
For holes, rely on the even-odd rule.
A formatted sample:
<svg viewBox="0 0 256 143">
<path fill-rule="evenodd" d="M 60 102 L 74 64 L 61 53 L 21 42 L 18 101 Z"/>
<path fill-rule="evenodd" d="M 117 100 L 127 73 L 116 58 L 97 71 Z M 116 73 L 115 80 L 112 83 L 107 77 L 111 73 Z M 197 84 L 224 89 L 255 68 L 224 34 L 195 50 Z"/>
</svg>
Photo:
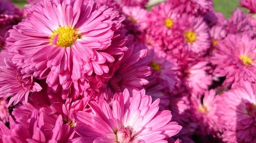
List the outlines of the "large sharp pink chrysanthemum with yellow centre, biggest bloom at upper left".
<svg viewBox="0 0 256 143">
<path fill-rule="evenodd" d="M 123 18 L 93 1 L 44 1 L 10 31 L 7 45 L 13 63 L 25 73 L 46 79 L 53 90 L 78 89 L 93 74 L 109 72 L 108 64 L 123 54 Z"/>
</svg>

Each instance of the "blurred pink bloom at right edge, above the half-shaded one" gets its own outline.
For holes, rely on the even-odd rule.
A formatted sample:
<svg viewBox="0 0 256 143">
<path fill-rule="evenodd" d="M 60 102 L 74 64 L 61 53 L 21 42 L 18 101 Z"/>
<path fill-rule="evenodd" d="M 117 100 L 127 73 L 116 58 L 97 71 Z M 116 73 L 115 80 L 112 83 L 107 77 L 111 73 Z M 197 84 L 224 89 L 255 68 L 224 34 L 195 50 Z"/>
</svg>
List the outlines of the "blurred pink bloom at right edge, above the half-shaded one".
<svg viewBox="0 0 256 143">
<path fill-rule="evenodd" d="M 243 80 L 254 83 L 256 40 L 247 35 L 229 35 L 212 56 L 211 63 L 216 65 L 214 75 L 226 76 L 223 85 L 236 85 Z"/>
</svg>

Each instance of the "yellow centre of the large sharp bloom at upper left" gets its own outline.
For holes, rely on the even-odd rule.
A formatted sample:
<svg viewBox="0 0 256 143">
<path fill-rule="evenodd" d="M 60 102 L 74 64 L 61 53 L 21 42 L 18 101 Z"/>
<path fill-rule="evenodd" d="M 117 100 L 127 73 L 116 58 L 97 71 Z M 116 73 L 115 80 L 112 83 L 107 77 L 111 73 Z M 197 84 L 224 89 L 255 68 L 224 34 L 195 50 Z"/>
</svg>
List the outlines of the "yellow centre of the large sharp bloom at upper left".
<svg viewBox="0 0 256 143">
<path fill-rule="evenodd" d="M 70 47 L 77 39 L 81 39 L 81 34 L 78 34 L 75 28 L 59 26 L 50 36 L 50 44 L 55 44 L 60 47 Z"/>
</svg>

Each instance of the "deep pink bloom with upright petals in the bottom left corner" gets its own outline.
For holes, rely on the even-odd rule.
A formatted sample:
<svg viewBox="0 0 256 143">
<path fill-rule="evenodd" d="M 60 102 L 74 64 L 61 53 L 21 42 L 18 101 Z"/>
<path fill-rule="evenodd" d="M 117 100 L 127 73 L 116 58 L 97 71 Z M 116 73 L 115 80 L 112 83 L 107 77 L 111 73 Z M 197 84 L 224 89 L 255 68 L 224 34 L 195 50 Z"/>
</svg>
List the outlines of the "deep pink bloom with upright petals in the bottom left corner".
<svg viewBox="0 0 256 143">
<path fill-rule="evenodd" d="M 0 123 L 1 142 L 71 142 L 74 133 L 70 126 L 63 124 L 61 116 L 51 125 L 44 120 L 44 114 L 33 110 L 29 124 L 19 124 L 10 120 L 10 129 Z"/>
</svg>

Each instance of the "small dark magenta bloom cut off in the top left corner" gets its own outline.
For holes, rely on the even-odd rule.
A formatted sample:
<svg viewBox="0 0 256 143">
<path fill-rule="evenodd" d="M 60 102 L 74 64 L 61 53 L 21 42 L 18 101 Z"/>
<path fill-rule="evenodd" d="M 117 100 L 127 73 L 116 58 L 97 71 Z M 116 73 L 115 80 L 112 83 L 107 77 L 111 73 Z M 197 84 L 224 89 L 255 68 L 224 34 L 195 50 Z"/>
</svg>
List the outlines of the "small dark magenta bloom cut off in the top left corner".
<svg viewBox="0 0 256 143">
<path fill-rule="evenodd" d="M 15 8 L 12 2 L 0 1 L 0 25 L 16 23 L 22 18 L 22 10 Z"/>
</svg>

